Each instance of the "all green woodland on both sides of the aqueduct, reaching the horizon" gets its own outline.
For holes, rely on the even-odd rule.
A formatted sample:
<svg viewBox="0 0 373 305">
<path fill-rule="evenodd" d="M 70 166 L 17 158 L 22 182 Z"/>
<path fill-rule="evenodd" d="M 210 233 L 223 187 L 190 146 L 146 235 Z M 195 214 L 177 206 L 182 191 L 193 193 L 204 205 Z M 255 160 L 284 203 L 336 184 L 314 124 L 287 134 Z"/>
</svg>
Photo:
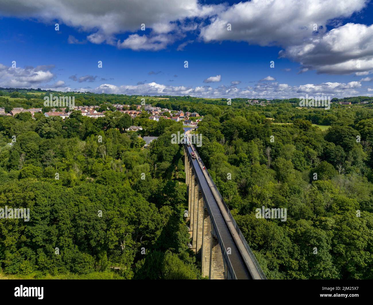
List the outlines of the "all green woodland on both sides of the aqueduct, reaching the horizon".
<svg viewBox="0 0 373 305">
<path fill-rule="evenodd" d="M 0 107 L 43 107 L 43 95 L 19 94 L 0 98 Z M 75 97 L 76 105 L 106 109 L 140 104 L 137 96 Z M 197 149 L 267 278 L 373 278 L 372 104 L 325 110 L 291 100 L 264 107 L 164 98 L 147 103 L 204 116 Z M 125 132 L 130 125 L 159 138 L 141 149 L 138 133 Z M 200 279 L 186 246 L 182 147 L 170 141 L 177 131 L 181 123 L 118 111 L 98 119 L 77 111 L 66 120 L 0 116 L 0 207 L 29 207 L 31 218 L 0 219 L 3 273 Z M 286 208 L 287 220 L 256 218 L 263 205 Z"/>
</svg>

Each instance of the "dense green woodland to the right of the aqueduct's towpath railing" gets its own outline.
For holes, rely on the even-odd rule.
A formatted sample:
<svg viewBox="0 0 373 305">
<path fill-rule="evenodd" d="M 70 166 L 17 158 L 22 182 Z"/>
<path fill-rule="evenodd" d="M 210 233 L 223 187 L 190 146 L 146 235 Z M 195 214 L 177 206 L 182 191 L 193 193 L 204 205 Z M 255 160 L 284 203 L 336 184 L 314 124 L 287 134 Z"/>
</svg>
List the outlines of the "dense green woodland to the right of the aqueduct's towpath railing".
<svg viewBox="0 0 373 305">
<path fill-rule="evenodd" d="M 269 279 L 372 279 L 373 109 L 318 112 L 305 117 L 333 117 L 327 131 L 297 116 L 208 115 L 198 150 Z M 287 221 L 257 219 L 262 206 L 286 208 Z"/>
</svg>

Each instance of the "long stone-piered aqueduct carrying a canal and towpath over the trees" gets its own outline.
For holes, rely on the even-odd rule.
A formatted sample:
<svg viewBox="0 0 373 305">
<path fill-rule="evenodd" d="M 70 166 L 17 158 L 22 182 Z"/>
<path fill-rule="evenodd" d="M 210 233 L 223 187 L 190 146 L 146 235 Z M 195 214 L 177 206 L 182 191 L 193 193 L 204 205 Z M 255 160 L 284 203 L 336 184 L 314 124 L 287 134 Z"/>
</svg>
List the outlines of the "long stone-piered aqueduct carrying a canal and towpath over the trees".
<svg viewBox="0 0 373 305">
<path fill-rule="evenodd" d="M 192 152 L 196 158 L 192 158 Z M 193 144 L 184 144 L 192 250 L 209 279 L 266 279 Z"/>
</svg>

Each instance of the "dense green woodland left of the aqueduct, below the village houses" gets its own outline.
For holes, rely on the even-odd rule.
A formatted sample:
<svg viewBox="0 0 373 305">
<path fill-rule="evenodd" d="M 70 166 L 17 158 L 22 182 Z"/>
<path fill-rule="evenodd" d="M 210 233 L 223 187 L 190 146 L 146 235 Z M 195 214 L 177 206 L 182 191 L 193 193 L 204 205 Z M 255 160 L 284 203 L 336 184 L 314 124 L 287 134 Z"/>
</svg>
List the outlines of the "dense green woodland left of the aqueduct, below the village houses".
<svg viewBox="0 0 373 305">
<path fill-rule="evenodd" d="M 119 130 L 129 116 L 115 115 L 0 117 L 0 206 L 30 208 L 29 222 L 0 220 L 4 273 L 200 278 L 183 219 L 182 147 L 170 142 L 181 123 L 157 124 L 159 138 L 141 150 L 136 133 Z"/>
</svg>

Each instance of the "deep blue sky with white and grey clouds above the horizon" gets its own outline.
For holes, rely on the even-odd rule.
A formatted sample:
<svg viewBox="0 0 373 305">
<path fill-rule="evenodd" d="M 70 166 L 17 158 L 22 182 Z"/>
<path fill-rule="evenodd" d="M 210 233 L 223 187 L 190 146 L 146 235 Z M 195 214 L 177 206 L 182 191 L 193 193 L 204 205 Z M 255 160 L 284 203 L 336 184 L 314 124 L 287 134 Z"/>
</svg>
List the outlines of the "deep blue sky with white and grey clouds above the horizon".
<svg viewBox="0 0 373 305">
<path fill-rule="evenodd" d="M 0 0 L 0 87 L 227 98 L 373 95 L 369 1 L 28 2 Z"/>
</svg>

